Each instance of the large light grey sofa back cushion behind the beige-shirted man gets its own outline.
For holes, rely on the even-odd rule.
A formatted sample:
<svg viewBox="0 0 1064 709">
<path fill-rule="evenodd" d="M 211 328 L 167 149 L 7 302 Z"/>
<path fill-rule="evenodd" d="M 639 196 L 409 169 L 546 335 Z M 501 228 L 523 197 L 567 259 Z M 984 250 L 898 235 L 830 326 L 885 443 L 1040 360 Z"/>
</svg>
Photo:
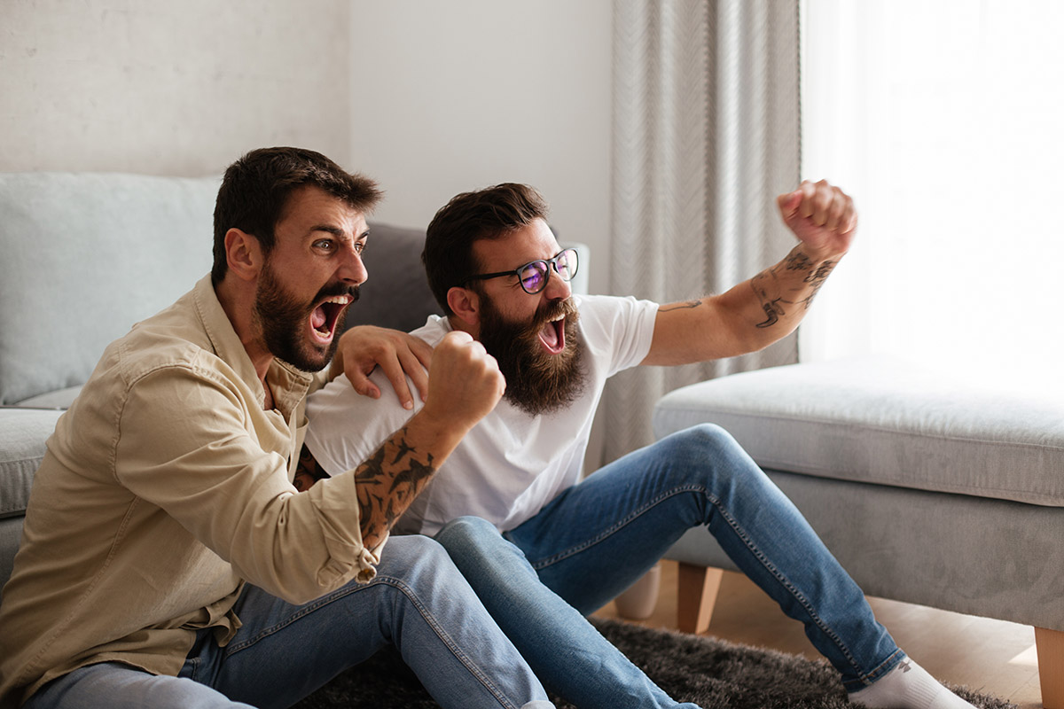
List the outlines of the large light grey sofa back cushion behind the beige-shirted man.
<svg viewBox="0 0 1064 709">
<path fill-rule="evenodd" d="M 211 269 L 217 178 L 0 173 L 0 404 L 84 384 Z"/>
</svg>

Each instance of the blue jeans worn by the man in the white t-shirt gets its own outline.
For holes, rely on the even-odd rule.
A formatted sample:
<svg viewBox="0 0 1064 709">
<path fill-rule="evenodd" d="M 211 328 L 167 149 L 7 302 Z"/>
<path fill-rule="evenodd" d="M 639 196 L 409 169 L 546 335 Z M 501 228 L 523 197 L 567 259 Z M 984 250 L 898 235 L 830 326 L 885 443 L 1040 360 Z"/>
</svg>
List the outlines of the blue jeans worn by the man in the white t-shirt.
<svg viewBox="0 0 1064 709">
<path fill-rule="evenodd" d="M 570 698 L 573 682 L 594 676 L 597 689 L 575 704 L 615 707 L 626 703 L 608 698 L 611 691 L 634 692 L 649 680 L 621 662 L 603 671 L 599 658 L 609 656 L 609 643 L 578 619 L 699 525 L 801 621 L 847 691 L 904 658 L 801 512 L 718 426 L 679 432 L 603 467 L 501 537 L 462 518 L 436 539 L 548 688 Z"/>
</svg>

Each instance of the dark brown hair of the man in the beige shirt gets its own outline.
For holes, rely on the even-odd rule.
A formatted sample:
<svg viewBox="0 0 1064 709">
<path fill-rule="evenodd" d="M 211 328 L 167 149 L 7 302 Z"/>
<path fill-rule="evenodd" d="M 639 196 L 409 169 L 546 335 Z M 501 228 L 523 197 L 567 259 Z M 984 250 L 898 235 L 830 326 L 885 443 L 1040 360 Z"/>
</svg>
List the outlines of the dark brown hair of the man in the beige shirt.
<svg viewBox="0 0 1064 709">
<path fill-rule="evenodd" d="M 273 227 L 284 215 L 292 192 L 318 187 L 351 208 L 370 212 L 383 192 L 377 183 L 345 171 L 321 153 L 302 148 L 261 148 L 229 166 L 214 205 L 215 285 L 226 277 L 226 233 L 231 229 L 253 235 L 263 253 L 273 250 Z"/>
</svg>

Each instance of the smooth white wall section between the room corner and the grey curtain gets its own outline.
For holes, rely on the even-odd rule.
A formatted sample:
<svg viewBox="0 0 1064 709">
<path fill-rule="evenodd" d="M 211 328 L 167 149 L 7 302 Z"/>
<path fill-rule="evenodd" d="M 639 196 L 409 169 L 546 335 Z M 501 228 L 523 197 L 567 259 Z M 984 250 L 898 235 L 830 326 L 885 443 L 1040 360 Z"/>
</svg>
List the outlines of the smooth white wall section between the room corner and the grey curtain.
<svg viewBox="0 0 1064 709">
<path fill-rule="evenodd" d="M 610 0 L 356 0 L 350 167 L 387 191 L 377 217 L 425 226 L 458 192 L 525 182 L 605 292 L 612 21 Z"/>
</svg>

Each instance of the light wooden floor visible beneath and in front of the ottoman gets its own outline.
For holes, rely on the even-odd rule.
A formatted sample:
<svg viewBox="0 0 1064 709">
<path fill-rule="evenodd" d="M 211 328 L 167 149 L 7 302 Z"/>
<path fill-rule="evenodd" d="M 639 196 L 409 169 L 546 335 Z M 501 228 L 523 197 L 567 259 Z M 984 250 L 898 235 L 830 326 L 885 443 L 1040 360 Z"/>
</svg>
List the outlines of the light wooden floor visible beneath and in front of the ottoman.
<svg viewBox="0 0 1064 709">
<path fill-rule="evenodd" d="M 677 563 L 662 561 L 661 594 L 653 614 L 638 621 L 676 628 Z M 1019 709 L 1042 709 L 1034 629 L 924 606 L 868 598 L 898 645 L 928 672 L 952 685 L 1008 699 Z M 597 613 L 617 618 L 611 603 Z M 820 657 L 802 632 L 742 574 L 726 572 L 709 635 L 731 642 Z"/>
</svg>

